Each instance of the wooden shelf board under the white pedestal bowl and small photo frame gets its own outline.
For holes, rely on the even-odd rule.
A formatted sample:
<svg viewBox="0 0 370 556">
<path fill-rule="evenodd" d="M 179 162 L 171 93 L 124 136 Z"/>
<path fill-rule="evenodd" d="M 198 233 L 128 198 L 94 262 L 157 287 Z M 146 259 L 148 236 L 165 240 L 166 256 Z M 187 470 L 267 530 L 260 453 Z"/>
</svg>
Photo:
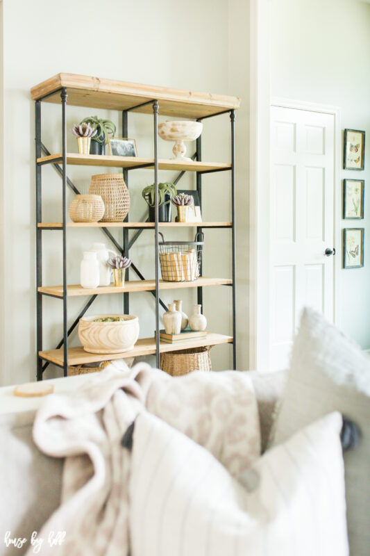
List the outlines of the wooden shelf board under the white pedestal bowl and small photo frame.
<svg viewBox="0 0 370 556">
<path fill-rule="evenodd" d="M 49 154 L 37 158 L 39 164 L 55 164 L 62 162 L 62 154 Z M 153 158 L 139 158 L 138 156 L 110 156 L 101 154 L 78 154 L 67 153 L 67 164 L 79 166 L 105 166 L 105 167 L 140 167 L 148 165 L 147 168 L 153 169 Z M 158 162 L 160 170 L 188 170 L 190 172 L 208 172 L 209 170 L 229 170 L 231 165 L 219 162 L 198 162 L 198 161 L 176 161 L 171 158 L 160 158 Z"/>
</svg>

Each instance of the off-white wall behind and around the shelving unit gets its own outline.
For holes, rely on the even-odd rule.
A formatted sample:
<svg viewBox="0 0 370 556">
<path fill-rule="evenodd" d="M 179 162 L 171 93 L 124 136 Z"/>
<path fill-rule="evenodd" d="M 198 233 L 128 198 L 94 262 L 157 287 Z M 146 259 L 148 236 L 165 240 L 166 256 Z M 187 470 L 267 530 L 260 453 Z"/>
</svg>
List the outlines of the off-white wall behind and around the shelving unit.
<svg viewBox="0 0 370 556">
<path fill-rule="evenodd" d="M 235 10 L 235 6 L 233 8 Z M 244 10 L 245 12 L 245 10 Z M 248 73 L 248 35 L 244 31 L 245 49 L 239 53 L 242 70 L 230 66 L 230 53 L 235 50 L 235 37 L 229 41 L 228 1 L 190 0 L 183 3 L 169 0 L 111 0 L 56 1 L 3 0 L 5 29 L 3 35 L 3 93 L 5 130 L 3 167 L 3 202 L 1 203 L 1 350 L 0 383 L 11 384 L 35 377 L 35 165 L 34 106 L 31 86 L 58 72 L 105 76 L 138 83 L 153 83 L 171 87 L 205 90 L 242 97 L 243 113 L 238 125 L 246 126 Z M 195 15 L 195 17 L 194 17 Z M 243 13 L 248 17 L 247 13 Z M 237 27 L 241 31 L 242 22 Z M 246 21 L 246 28 L 248 22 Z M 232 45 L 231 51 L 229 50 Z M 235 72 L 235 73 L 234 73 Z M 235 75 L 237 74 L 237 78 Z M 67 126 L 70 128 L 86 115 L 106 115 L 119 125 L 119 114 L 69 107 Z M 246 133 L 237 131 L 245 141 Z M 140 156 L 151 156 L 151 118 L 146 115 L 129 116 L 129 136 L 135 137 Z M 203 131 L 203 158 L 228 161 L 229 119 L 208 120 Z M 42 139 L 51 152 L 60 150 L 60 108 L 42 105 Z M 76 150 L 75 139 L 68 134 L 67 145 Z M 190 151 L 194 146 L 189 146 Z M 160 142 L 160 156 L 171 156 L 171 145 Z M 244 157 L 245 145 L 239 145 L 238 155 Z M 238 236 L 239 259 L 246 257 L 246 222 L 243 206 L 246 203 L 246 158 L 239 158 L 237 216 L 242 222 Z M 69 167 L 68 174 L 83 193 L 87 192 L 94 168 Z M 174 179 L 176 173 L 162 172 L 160 179 Z M 131 172 L 131 220 L 144 217 L 142 188 L 152 183 L 148 170 Z M 204 177 L 203 197 L 205 220 L 227 220 L 230 215 L 230 177 L 211 174 Z M 60 220 L 61 180 L 51 167 L 42 170 L 43 218 Z M 181 186 L 193 188 L 194 176 L 187 175 Z M 69 202 L 72 201 L 69 195 Z M 186 234 L 187 232 L 184 232 Z M 172 236 L 174 237 L 174 236 Z M 186 236 L 190 237 L 190 236 Z M 205 237 L 205 273 L 230 276 L 230 233 L 208 231 Z M 62 276 L 61 234 L 45 231 L 44 284 L 60 284 Z M 99 231 L 74 230 L 68 232 L 69 283 L 79 281 L 79 263 L 83 250 L 94 240 L 104 240 Z M 108 242 L 107 242 L 108 245 Z M 146 277 L 153 277 L 153 233 L 144 231 L 132 251 L 132 258 Z M 246 265 L 239 266 L 238 280 L 246 291 Z M 134 279 L 134 275 L 131 274 Z M 117 296 L 118 297 L 118 296 Z M 116 296 L 100 296 L 90 313 L 117 311 L 122 300 Z M 164 293 L 165 301 L 172 296 Z M 182 291 L 185 311 L 196 302 L 195 291 Z M 230 332 L 230 288 L 209 288 L 205 291 L 205 315 L 209 329 Z M 81 309 L 83 299 L 69 301 L 69 321 Z M 151 336 L 154 328 L 154 305 L 150 293 L 131 295 L 131 313 L 140 317 L 141 336 Z M 244 342 L 239 354 L 241 367 L 246 366 L 246 305 L 239 306 L 239 340 Z M 44 300 L 44 347 L 51 348 L 62 334 L 62 303 Z M 78 344 L 76 334 L 72 345 Z M 212 362 L 216 369 L 231 364 L 231 348 L 215 347 Z M 51 368 L 51 371 L 53 369 Z M 60 374 L 60 371 L 56 371 Z M 48 373 L 48 376 L 50 373 Z"/>
</svg>

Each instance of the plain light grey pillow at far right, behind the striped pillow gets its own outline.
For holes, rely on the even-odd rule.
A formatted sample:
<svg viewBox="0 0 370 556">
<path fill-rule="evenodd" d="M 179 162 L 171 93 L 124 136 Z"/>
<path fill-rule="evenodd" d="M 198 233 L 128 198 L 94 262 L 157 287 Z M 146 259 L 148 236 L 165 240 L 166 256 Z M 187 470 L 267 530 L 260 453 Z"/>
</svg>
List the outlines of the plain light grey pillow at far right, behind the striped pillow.
<svg viewBox="0 0 370 556">
<path fill-rule="evenodd" d="M 340 411 L 360 429 L 344 452 L 351 554 L 370 552 L 370 358 L 312 309 L 305 309 L 276 420 L 280 443 L 313 420 Z"/>
</svg>

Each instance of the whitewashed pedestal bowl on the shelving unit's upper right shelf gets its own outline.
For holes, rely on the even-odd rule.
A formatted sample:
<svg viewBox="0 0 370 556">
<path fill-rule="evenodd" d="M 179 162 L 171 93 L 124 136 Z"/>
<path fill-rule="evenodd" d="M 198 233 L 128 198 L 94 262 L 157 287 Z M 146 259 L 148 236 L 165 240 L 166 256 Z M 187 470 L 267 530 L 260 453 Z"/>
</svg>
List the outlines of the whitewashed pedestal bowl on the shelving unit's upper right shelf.
<svg viewBox="0 0 370 556">
<path fill-rule="evenodd" d="M 186 147 L 184 141 L 194 141 L 199 138 L 203 130 L 201 122 L 192 122 L 190 120 L 180 120 L 176 122 L 164 122 L 158 125 L 158 133 L 160 138 L 165 141 L 175 141 L 172 152 L 176 161 L 192 161 L 191 158 L 185 156 Z"/>
</svg>

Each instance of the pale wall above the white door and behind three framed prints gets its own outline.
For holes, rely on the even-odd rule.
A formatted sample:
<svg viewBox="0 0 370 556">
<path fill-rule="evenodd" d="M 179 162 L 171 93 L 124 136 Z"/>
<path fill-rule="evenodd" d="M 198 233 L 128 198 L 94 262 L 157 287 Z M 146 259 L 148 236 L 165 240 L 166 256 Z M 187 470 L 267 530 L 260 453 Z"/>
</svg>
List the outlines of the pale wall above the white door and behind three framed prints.
<svg viewBox="0 0 370 556">
<path fill-rule="evenodd" d="M 364 268 L 341 270 L 339 322 L 370 347 L 370 6 L 359 0 L 272 0 L 271 94 L 339 106 L 342 129 L 367 132 L 364 172 L 342 170 L 344 178 L 365 180 Z M 339 192 L 340 194 L 340 192 Z M 342 257 L 342 252 L 337 256 Z"/>
</svg>

